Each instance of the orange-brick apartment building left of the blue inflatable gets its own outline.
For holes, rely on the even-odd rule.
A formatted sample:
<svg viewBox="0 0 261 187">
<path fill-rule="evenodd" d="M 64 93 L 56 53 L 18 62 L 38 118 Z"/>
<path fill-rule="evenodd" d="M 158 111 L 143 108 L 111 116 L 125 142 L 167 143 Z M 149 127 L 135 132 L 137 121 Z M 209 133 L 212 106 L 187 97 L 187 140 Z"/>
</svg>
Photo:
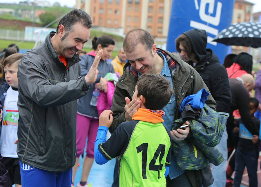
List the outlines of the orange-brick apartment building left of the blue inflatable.
<svg viewBox="0 0 261 187">
<path fill-rule="evenodd" d="M 156 38 L 166 38 L 171 0 L 76 0 L 75 8 L 90 14 L 94 26 L 116 29 L 119 35 L 143 28 Z"/>
</svg>

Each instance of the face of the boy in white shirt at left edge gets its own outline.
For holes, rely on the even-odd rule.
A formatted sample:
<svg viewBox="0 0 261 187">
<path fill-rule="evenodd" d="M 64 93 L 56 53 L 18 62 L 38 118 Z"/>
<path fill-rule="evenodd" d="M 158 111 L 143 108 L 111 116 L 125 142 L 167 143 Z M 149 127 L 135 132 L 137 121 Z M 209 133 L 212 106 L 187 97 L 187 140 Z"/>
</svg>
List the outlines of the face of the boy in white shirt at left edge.
<svg viewBox="0 0 261 187">
<path fill-rule="evenodd" d="M 12 86 L 14 88 L 18 88 L 17 70 L 18 67 L 16 63 L 13 63 L 10 66 L 9 64 L 7 64 L 4 67 L 6 82 L 9 84 L 9 86 Z"/>
</svg>

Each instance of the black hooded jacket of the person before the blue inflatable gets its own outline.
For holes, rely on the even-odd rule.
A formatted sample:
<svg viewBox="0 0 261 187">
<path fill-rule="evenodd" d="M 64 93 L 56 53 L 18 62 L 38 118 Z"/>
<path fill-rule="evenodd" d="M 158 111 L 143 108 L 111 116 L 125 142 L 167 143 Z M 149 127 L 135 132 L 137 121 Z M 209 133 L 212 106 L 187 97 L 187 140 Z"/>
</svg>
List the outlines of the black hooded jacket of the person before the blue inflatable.
<svg viewBox="0 0 261 187">
<path fill-rule="evenodd" d="M 206 49 L 207 34 L 205 30 L 192 29 L 183 33 L 191 41 L 198 63 L 194 66 L 217 103 L 217 112 L 229 112 L 232 104 L 226 68 L 219 62 L 211 49 Z M 193 66 L 193 62 L 187 62 Z"/>
</svg>

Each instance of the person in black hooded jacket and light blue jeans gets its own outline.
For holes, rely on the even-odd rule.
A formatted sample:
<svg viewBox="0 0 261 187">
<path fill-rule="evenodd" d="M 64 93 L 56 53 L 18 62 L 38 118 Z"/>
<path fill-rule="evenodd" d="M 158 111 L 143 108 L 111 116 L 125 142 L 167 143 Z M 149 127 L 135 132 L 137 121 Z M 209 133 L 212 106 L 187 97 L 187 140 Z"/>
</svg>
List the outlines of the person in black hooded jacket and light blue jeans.
<svg viewBox="0 0 261 187">
<path fill-rule="evenodd" d="M 207 34 L 205 30 L 192 29 L 184 32 L 176 39 L 176 49 L 183 60 L 197 70 L 209 88 L 217 103 L 217 112 L 229 112 L 231 106 L 231 91 L 226 68 L 211 49 L 206 49 Z M 225 186 L 227 163 L 227 132 L 224 131 L 218 150 L 225 161 L 219 166 L 213 166 L 212 174 L 215 179 L 213 186 Z"/>
</svg>

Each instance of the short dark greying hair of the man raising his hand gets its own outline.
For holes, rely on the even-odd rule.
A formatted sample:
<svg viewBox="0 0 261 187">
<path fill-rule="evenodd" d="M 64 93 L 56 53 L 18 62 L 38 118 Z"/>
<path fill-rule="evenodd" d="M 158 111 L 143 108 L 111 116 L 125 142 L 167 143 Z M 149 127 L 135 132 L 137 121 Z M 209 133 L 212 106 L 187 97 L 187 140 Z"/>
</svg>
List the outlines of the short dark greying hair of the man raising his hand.
<svg viewBox="0 0 261 187">
<path fill-rule="evenodd" d="M 87 14 L 85 11 L 81 9 L 74 8 L 59 21 L 58 26 L 56 28 L 56 33 L 58 33 L 59 25 L 63 25 L 65 28 L 65 35 L 61 38 L 61 41 L 63 41 L 68 36 L 75 23 L 81 23 L 88 29 L 93 26 L 89 14 Z"/>
</svg>

